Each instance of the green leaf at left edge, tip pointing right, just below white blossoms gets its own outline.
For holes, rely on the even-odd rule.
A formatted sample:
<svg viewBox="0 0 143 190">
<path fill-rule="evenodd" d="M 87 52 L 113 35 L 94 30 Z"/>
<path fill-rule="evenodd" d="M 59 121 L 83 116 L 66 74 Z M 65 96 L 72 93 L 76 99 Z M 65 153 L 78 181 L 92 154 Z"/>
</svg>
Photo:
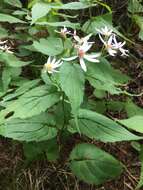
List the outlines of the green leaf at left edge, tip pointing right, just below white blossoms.
<svg viewBox="0 0 143 190">
<path fill-rule="evenodd" d="M 21 61 L 14 54 L 0 52 L 0 61 L 11 67 L 22 67 L 30 64 L 30 61 Z"/>
</svg>

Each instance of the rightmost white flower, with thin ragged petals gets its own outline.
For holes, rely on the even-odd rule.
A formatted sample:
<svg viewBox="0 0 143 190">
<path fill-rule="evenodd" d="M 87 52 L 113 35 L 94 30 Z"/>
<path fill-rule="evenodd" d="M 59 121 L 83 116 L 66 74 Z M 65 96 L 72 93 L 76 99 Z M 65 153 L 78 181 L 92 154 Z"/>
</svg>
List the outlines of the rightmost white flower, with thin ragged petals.
<svg viewBox="0 0 143 190">
<path fill-rule="evenodd" d="M 125 41 L 124 42 L 117 42 L 115 35 L 113 35 L 113 41 L 114 41 L 113 47 L 115 49 L 118 49 L 122 53 L 121 56 L 129 56 L 128 55 L 129 51 L 123 48 L 123 46 L 126 44 Z"/>
</svg>

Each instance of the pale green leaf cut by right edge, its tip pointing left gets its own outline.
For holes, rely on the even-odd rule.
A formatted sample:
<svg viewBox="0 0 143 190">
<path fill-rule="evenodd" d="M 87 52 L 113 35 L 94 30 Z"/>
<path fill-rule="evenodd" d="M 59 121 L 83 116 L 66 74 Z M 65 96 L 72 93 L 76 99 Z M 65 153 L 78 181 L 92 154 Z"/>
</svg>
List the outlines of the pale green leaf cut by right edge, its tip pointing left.
<svg viewBox="0 0 143 190">
<path fill-rule="evenodd" d="M 129 119 L 119 120 L 119 123 L 125 125 L 129 129 L 143 133 L 143 116 L 141 115 L 135 115 Z"/>
</svg>

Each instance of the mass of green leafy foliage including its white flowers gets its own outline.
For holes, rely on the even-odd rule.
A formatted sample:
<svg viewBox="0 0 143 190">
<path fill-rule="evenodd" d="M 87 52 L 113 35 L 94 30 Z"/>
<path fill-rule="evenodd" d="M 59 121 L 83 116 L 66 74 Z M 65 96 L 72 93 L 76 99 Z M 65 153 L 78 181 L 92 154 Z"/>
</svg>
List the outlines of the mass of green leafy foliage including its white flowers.
<svg viewBox="0 0 143 190">
<path fill-rule="evenodd" d="M 143 39 L 143 9 L 134 3 L 128 11 Z M 106 13 L 92 16 L 100 8 Z M 0 10 L 0 135 L 23 142 L 28 161 L 43 153 L 59 159 L 65 133 L 105 143 L 143 139 L 143 110 L 124 88 L 132 79 L 114 58 L 121 55 L 126 63 L 129 52 L 119 39 L 131 40 L 113 25 L 110 6 L 31 0 L 24 8 L 19 0 L 2 0 Z M 109 95 L 124 95 L 124 101 L 109 101 Z M 109 118 L 107 110 L 127 117 Z M 122 163 L 89 143 L 73 147 L 68 163 L 79 179 L 96 185 L 123 171 Z"/>
</svg>

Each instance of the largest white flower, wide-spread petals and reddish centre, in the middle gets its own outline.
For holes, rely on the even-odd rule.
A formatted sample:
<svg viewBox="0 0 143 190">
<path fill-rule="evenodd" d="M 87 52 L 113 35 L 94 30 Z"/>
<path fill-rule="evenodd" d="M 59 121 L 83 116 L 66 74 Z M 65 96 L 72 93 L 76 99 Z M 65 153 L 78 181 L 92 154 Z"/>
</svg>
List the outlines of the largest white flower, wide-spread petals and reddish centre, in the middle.
<svg viewBox="0 0 143 190">
<path fill-rule="evenodd" d="M 84 42 L 81 46 L 77 46 L 77 55 L 73 56 L 73 57 L 69 57 L 69 58 L 63 58 L 63 60 L 65 61 L 72 61 L 76 58 L 79 58 L 79 62 L 81 65 L 81 68 L 86 72 L 87 68 L 86 68 L 86 64 L 84 59 L 90 61 L 90 62 L 99 62 L 99 60 L 97 59 L 97 57 L 100 56 L 100 53 L 96 53 L 96 54 L 86 54 L 86 52 L 91 48 L 92 44 L 88 43 L 88 42 Z"/>
</svg>

